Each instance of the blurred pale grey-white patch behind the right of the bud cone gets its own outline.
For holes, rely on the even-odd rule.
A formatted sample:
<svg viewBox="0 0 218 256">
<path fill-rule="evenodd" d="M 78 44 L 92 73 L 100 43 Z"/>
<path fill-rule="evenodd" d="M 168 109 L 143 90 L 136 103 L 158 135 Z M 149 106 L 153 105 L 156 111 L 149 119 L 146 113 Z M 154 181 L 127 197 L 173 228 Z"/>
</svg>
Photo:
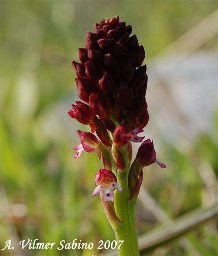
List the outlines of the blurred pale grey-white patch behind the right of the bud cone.
<svg viewBox="0 0 218 256">
<path fill-rule="evenodd" d="M 156 59 L 148 67 L 146 101 L 150 122 L 146 131 L 169 142 L 193 140 L 210 132 L 217 107 L 218 59 L 213 52 L 194 52 Z M 152 133 L 151 133 L 152 132 Z"/>
</svg>

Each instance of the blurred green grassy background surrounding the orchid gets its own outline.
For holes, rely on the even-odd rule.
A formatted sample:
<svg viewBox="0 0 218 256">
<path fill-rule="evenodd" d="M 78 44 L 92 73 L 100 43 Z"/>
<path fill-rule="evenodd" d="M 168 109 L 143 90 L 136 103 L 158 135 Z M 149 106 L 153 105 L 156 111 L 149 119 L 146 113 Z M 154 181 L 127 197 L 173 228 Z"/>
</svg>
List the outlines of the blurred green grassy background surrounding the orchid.
<svg viewBox="0 0 218 256">
<path fill-rule="evenodd" d="M 102 18 L 119 15 L 120 20 L 132 25 L 133 34 L 144 45 L 144 63 L 149 70 L 149 65 L 157 63 L 157 59 L 166 60 L 171 56 L 174 46 L 175 52 L 185 58 L 199 51 L 216 55 L 217 32 L 211 32 L 208 38 L 204 36 L 210 30 L 217 31 L 217 19 L 205 30 L 199 29 L 198 24 L 217 10 L 218 3 L 9 0 L 1 1 L 0 7 L 1 249 L 10 239 L 14 246 L 14 250 L 6 249 L 1 254 L 85 256 L 95 251 L 100 255 L 98 241 L 115 239 L 99 197 L 91 196 L 95 188 L 94 175 L 103 166 L 94 153 L 82 152 L 78 159 L 73 158 L 74 147 L 79 144 L 76 131 L 89 131 L 89 127 L 67 115 L 71 104 L 78 100 L 71 61 L 78 61 L 78 48 L 84 47 L 85 31 L 93 31 L 93 24 Z M 187 37 L 194 46 L 182 37 L 192 28 L 197 32 L 192 31 L 191 35 L 195 32 L 199 35 L 193 40 Z M 167 48 L 174 42 L 184 42 L 183 51 L 179 44 Z M 217 74 L 210 77 L 216 87 Z M 177 81 L 173 86 L 177 88 Z M 151 93 L 151 87 L 149 83 L 147 94 L 155 105 L 157 98 Z M 208 90 L 210 88 L 214 90 L 214 87 Z M 168 97 L 165 96 L 165 100 L 167 104 Z M 201 119 L 204 109 L 201 111 L 199 101 L 196 109 Z M 170 108 L 174 109 L 171 104 Z M 212 207 L 217 200 L 217 105 L 213 104 L 212 112 L 210 110 L 213 118 L 207 129 L 197 127 L 193 139 L 178 132 L 178 143 L 177 139 L 168 140 L 163 132 L 155 140 L 152 130 L 157 129 L 153 122 L 157 114 L 151 106 L 148 103 L 150 132 L 146 138 L 154 139 L 158 158 L 167 168 L 160 170 L 152 165 L 144 169 L 143 191 L 156 205 L 151 210 L 150 203 L 143 202 L 143 195 L 137 202 L 139 235 L 195 208 Z M 175 111 L 177 116 L 181 114 Z M 165 119 L 167 125 L 170 129 L 171 124 Z M 184 129 L 187 130 L 187 126 L 181 121 L 178 131 Z M 180 142 L 187 143 L 181 146 Z M 21 250 L 18 243 L 24 239 L 56 244 L 61 240 L 81 239 L 95 246 L 92 250 L 58 251 L 56 246 L 48 250 Z M 216 220 L 191 230 L 182 239 L 142 255 L 218 254 Z"/>
</svg>

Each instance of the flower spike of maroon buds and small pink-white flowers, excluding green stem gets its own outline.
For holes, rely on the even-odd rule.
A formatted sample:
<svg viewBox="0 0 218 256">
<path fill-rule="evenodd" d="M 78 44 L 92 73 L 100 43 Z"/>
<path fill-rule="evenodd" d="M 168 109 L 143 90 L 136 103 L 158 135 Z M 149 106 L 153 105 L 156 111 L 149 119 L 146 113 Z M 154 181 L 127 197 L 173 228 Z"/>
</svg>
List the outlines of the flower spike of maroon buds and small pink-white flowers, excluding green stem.
<svg viewBox="0 0 218 256">
<path fill-rule="evenodd" d="M 139 45 L 136 35 L 130 36 L 131 25 L 126 26 L 124 21 L 119 21 L 118 16 L 94 24 L 94 31 L 86 32 L 85 48 L 79 48 L 81 63 L 72 61 L 77 76 L 75 81 L 78 96 L 83 102 L 76 101 L 76 104 L 72 104 L 72 110 L 68 114 L 80 123 L 90 125 L 91 132 L 96 132 L 99 139 L 90 132 L 78 131 L 82 144 L 75 147 L 75 158 L 83 149 L 86 152 L 96 152 L 99 159 L 102 154 L 106 169 L 111 168 L 111 161 L 114 161 L 117 170 L 122 171 L 127 167 L 123 153 L 127 152 L 130 163 L 131 141 L 143 141 L 144 137 L 137 134 L 143 131 L 142 128 L 149 120 L 145 99 L 146 65 L 141 66 L 145 51 Z M 132 166 L 142 169 L 155 162 L 162 168 L 166 167 L 156 159 L 153 142 L 149 139 L 140 146 Z M 134 168 L 129 172 L 131 175 L 135 173 L 133 179 L 129 177 L 132 184 L 130 187 L 134 187 L 140 175 L 136 174 Z M 102 175 L 106 174 L 103 172 Z M 99 184 L 93 194 L 102 191 L 106 201 L 113 201 L 111 191 L 115 188 L 122 191 L 113 180 L 107 184 Z M 109 197 L 104 192 L 106 190 L 109 191 Z"/>
</svg>

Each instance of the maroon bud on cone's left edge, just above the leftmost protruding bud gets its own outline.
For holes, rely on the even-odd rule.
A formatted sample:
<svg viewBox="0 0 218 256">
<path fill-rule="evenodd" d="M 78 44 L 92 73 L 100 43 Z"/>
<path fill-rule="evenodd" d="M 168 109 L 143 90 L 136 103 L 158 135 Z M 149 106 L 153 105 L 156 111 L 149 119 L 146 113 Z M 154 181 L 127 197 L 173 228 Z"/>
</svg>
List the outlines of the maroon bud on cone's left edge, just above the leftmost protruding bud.
<svg viewBox="0 0 218 256">
<path fill-rule="evenodd" d="M 98 92 L 97 87 L 88 77 L 78 77 L 75 80 L 80 99 L 88 103 L 89 96 Z"/>
</svg>

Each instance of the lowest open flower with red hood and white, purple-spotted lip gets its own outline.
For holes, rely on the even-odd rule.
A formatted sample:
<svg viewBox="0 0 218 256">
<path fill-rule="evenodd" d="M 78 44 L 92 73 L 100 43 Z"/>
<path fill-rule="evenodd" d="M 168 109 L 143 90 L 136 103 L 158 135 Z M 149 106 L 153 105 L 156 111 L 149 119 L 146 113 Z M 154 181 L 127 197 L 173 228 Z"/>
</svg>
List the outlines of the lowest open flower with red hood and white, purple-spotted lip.
<svg viewBox="0 0 218 256">
<path fill-rule="evenodd" d="M 99 194 L 102 191 L 104 200 L 106 202 L 114 201 L 113 191 L 115 189 L 123 192 L 122 187 L 116 183 L 116 176 L 110 170 L 99 169 L 99 171 L 95 174 L 95 190 L 92 193 L 92 197 Z"/>
</svg>

